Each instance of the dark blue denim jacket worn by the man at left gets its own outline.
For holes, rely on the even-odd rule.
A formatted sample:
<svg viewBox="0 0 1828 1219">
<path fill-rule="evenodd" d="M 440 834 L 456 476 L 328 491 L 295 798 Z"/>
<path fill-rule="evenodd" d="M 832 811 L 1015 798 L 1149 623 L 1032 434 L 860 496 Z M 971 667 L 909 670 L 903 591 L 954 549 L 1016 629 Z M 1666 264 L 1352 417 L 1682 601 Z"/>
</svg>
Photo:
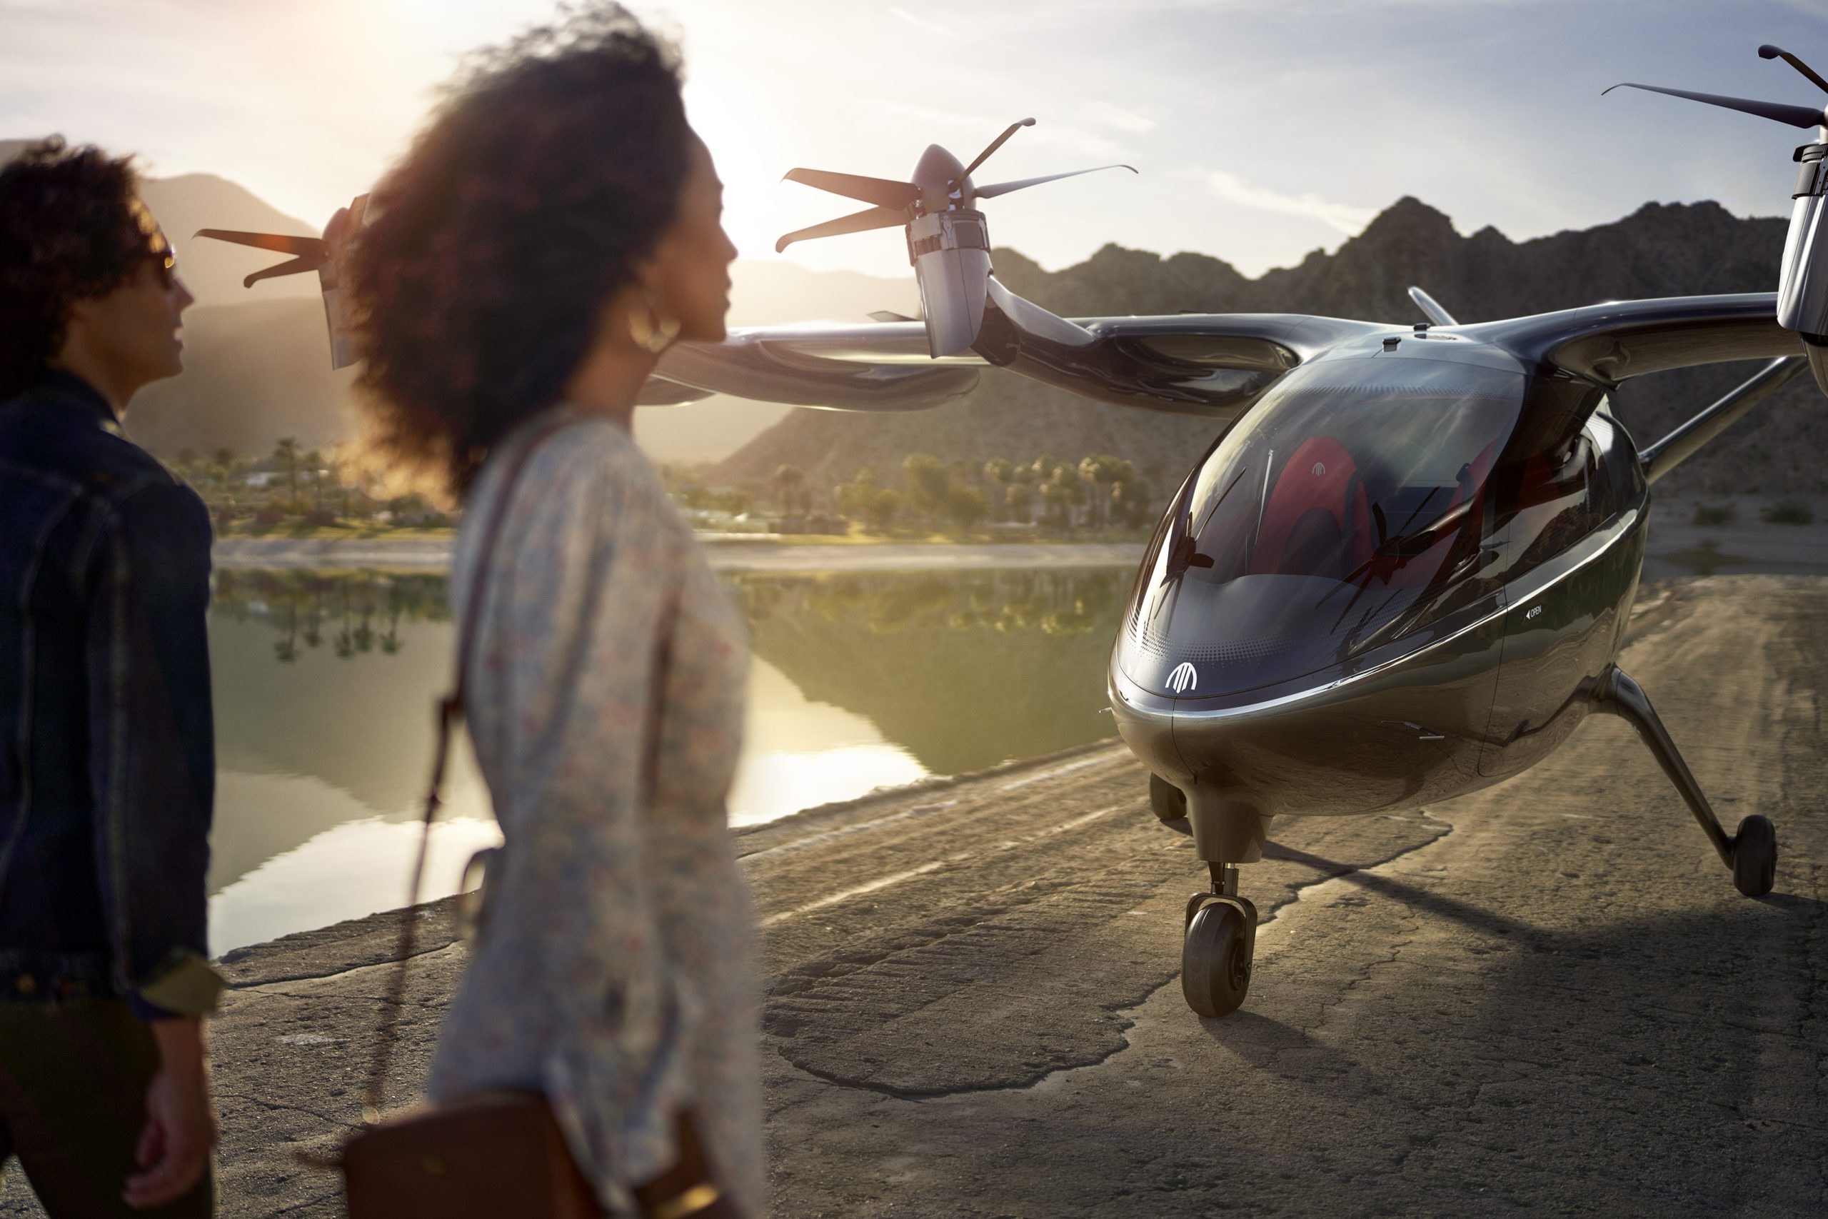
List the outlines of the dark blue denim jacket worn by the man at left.
<svg viewBox="0 0 1828 1219">
<path fill-rule="evenodd" d="M 210 1011 L 210 517 L 51 371 L 0 402 L 0 1000 Z"/>
</svg>

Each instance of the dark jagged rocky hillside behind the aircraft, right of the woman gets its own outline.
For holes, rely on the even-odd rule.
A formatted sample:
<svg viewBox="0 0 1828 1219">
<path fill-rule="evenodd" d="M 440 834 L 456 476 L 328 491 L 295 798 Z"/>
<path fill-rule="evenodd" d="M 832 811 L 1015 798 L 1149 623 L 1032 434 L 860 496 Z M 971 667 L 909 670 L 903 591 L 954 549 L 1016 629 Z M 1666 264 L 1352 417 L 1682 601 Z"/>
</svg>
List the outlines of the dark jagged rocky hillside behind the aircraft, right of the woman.
<svg viewBox="0 0 1828 1219">
<path fill-rule="evenodd" d="M 1784 225 L 1738 219 L 1713 203 L 1649 203 L 1610 225 L 1517 243 L 1495 228 L 1461 236 L 1446 216 L 1406 197 L 1338 252 L 1316 250 L 1298 267 L 1256 280 L 1203 254 L 1161 258 L 1115 245 L 1058 272 L 1007 249 L 996 250 L 994 261 L 1004 283 L 1062 316 L 1196 311 L 1413 322 L 1419 313 L 1406 291 L 1417 283 L 1461 322 L 1486 322 L 1614 298 L 1773 291 Z M 1753 367 L 1647 376 L 1621 389 L 1618 408 L 1647 442 Z M 713 477 L 766 479 L 795 464 L 812 486 L 832 486 L 861 466 L 896 470 L 912 451 L 947 462 L 1115 453 L 1152 473 L 1157 493 L 1166 495 L 1214 431 L 1210 422 L 1100 406 L 993 369 L 971 395 L 932 411 L 793 411 Z M 1824 440 L 1828 411 L 1804 380 L 1673 473 L 1660 492 L 1823 493 Z"/>
</svg>

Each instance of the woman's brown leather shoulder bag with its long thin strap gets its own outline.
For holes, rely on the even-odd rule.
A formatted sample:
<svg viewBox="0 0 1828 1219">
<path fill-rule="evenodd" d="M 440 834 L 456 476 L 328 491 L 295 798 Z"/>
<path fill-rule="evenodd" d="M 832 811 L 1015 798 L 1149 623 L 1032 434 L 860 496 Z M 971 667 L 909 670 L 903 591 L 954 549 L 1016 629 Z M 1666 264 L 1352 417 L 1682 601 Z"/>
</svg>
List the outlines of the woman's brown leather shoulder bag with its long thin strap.
<svg viewBox="0 0 1828 1219">
<path fill-rule="evenodd" d="M 419 886 L 431 843 L 431 822 L 442 802 L 444 764 L 450 737 L 462 722 L 464 673 L 483 607 L 488 563 L 495 554 L 501 519 L 519 481 L 521 468 L 552 431 L 548 424 L 512 457 L 501 497 L 477 550 L 477 570 L 464 599 L 462 638 L 457 645 L 457 678 L 450 694 L 439 700 L 439 744 L 431 762 L 431 782 L 424 800 L 424 837 L 413 864 L 406 910 L 400 912 L 399 967 L 388 983 L 380 1031 L 369 1064 L 364 1093 L 367 1126 L 342 1150 L 344 1192 L 349 1219 L 598 1219 L 603 1210 L 590 1182 L 565 1144 L 565 1135 L 547 1098 L 532 1091 L 490 1091 L 455 1104 L 428 1106 L 380 1120 L 382 1087 L 393 1051 L 393 1029 L 406 998 L 406 965 L 413 956 L 413 916 Z M 662 634 L 671 631 L 665 623 Z M 665 647 L 662 645 L 662 662 Z M 654 674 L 654 702 L 664 680 L 664 663 Z M 653 718 L 653 716 L 651 716 Z M 649 724 L 649 737 L 656 726 Z M 709 1166 L 689 1113 L 678 1115 L 680 1162 L 634 1190 L 642 1212 L 651 1219 L 718 1219 L 735 1215 L 709 1181 Z"/>
</svg>

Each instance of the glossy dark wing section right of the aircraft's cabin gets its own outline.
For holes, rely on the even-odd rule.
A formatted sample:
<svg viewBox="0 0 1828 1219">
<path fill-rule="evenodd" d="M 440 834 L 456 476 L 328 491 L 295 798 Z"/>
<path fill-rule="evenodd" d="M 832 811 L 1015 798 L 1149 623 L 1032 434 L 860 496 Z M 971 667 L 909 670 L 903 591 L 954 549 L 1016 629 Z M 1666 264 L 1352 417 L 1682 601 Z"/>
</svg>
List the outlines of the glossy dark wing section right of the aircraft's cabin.
<svg viewBox="0 0 1828 1219">
<path fill-rule="evenodd" d="M 1616 300 L 1459 333 L 1609 386 L 1696 364 L 1804 355 L 1795 331 L 1777 323 L 1777 292 Z"/>
</svg>

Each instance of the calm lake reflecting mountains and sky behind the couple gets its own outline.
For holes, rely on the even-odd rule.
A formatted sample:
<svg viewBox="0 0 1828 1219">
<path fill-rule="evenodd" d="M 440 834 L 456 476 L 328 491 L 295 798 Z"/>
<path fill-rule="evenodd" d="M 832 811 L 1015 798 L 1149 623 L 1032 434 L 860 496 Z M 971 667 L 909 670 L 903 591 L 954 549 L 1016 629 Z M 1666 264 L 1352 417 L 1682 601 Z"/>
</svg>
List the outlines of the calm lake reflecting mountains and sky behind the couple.
<svg viewBox="0 0 1828 1219">
<path fill-rule="evenodd" d="M 755 649 L 731 824 L 1111 737 L 1132 576 L 726 576 Z M 214 952 L 404 903 L 453 649 L 442 576 L 218 572 Z M 497 841 L 464 740 L 426 897 Z"/>
</svg>

